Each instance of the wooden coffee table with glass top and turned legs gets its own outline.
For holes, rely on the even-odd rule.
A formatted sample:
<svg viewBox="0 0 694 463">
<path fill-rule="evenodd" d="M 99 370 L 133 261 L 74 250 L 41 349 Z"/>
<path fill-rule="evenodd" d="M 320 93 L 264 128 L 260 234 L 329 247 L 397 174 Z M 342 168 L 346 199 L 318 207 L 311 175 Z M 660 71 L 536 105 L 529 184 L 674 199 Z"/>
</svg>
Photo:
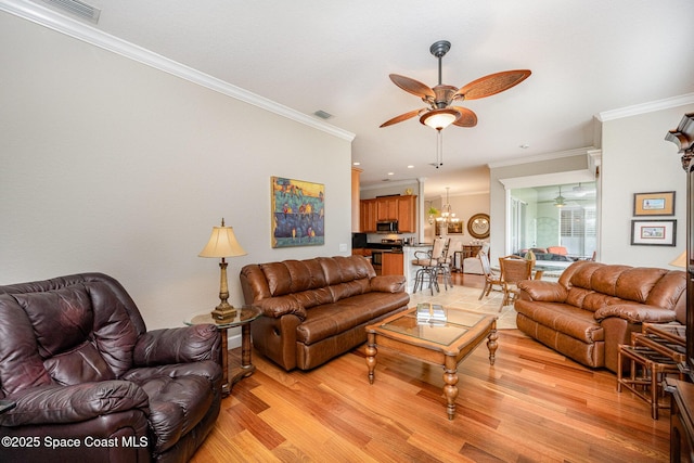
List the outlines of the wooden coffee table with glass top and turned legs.
<svg viewBox="0 0 694 463">
<path fill-rule="evenodd" d="M 445 309 L 446 321 L 417 322 L 416 308 L 367 326 L 367 366 L 373 384 L 377 347 L 387 347 L 444 368 L 448 419 L 455 416 L 458 364 L 487 339 L 489 364 L 497 351 L 497 317 L 462 309 Z"/>
</svg>

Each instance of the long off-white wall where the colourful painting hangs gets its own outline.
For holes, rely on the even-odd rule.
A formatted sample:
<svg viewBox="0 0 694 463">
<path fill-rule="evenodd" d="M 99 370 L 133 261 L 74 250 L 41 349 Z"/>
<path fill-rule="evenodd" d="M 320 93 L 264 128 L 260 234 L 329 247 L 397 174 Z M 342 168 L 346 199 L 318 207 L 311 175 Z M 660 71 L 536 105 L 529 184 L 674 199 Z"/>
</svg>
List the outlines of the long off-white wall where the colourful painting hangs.
<svg viewBox="0 0 694 463">
<path fill-rule="evenodd" d="M 5 13 L 0 62 L 0 284 L 105 272 L 156 329 L 219 303 L 222 217 L 236 306 L 246 263 L 348 254 L 348 140 Z M 325 184 L 325 245 L 271 247 L 271 176 Z"/>
</svg>

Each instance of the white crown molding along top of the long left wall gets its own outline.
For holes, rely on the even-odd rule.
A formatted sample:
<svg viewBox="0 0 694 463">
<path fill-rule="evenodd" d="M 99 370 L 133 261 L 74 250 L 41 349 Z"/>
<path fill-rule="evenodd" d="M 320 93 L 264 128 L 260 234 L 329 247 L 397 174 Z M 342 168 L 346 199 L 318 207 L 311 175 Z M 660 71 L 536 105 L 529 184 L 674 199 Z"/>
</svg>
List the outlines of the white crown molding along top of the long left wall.
<svg viewBox="0 0 694 463">
<path fill-rule="evenodd" d="M 200 70 L 185 66 L 184 64 L 154 53 L 151 50 L 146 50 L 142 47 L 136 46 L 134 43 L 130 43 L 115 36 L 108 35 L 88 24 L 64 16 L 40 4 L 26 0 L 0 0 L 0 11 L 30 21 L 40 26 L 90 43 L 94 47 L 117 53 L 121 56 L 180 77 L 227 97 L 231 97 L 235 100 L 243 101 L 244 103 L 248 103 L 286 117 L 287 119 L 322 130 L 349 142 L 351 142 L 356 137 L 355 133 L 347 130 L 313 119 L 311 116 L 299 113 L 296 110 L 292 110 L 291 107 L 284 106 L 272 100 L 201 73 Z"/>
</svg>

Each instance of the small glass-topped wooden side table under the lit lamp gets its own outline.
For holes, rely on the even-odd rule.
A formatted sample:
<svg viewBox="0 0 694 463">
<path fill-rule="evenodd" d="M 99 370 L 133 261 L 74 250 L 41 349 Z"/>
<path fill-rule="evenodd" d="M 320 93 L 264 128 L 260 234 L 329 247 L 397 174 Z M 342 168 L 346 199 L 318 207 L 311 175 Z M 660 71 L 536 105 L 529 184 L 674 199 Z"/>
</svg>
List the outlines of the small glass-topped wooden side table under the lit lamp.
<svg viewBox="0 0 694 463">
<path fill-rule="evenodd" d="M 250 322 L 260 317 L 262 311 L 258 307 L 244 306 L 236 309 L 236 317 L 228 322 L 216 322 L 211 313 L 194 316 L 185 322 L 188 325 L 210 323 L 217 326 L 221 338 L 221 358 L 219 364 L 222 369 L 221 394 L 227 397 L 231 394 L 231 388 L 246 376 L 250 376 L 256 371 L 256 366 L 250 361 Z M 231 327 L 241 326 L 241 365 L 229 371 L 229 339 L 228 331 Z"/>
</svg>

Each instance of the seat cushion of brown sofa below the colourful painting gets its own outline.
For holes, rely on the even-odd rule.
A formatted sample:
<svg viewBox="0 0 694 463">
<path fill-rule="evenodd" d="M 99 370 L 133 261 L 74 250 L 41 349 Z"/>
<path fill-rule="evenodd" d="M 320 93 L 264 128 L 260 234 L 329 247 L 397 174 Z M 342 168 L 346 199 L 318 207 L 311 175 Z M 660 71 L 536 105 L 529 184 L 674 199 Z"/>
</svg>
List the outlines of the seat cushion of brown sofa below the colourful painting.
<svg viewBox="0 0 694 463">
<path fill-rule="evenodd" d="M 344 333 L 407 305 L 409 297 L 407 293 L 369 293 L 314 307 L 296 329 L 296 340 L 311 345 Z"/>
</svg>

